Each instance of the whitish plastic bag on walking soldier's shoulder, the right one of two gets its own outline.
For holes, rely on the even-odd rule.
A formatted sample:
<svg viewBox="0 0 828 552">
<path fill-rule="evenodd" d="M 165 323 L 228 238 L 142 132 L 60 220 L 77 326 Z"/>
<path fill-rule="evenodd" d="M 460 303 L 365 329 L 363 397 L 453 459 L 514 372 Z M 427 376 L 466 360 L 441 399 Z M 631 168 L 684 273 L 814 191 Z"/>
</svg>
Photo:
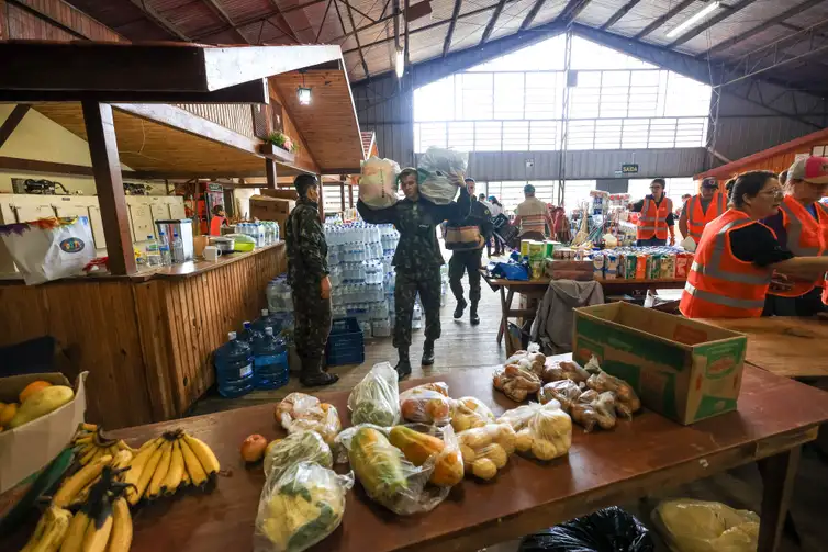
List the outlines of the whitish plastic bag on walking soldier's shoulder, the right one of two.
<svg viewBox="0 0 828 552">
<path fill-rule="evenodd" d="M 429 147 L 417 161 L 419 194 L 440 205 L 451 203 L 463 185 L 468 166 L 468 153 Z"/>
</svg>

